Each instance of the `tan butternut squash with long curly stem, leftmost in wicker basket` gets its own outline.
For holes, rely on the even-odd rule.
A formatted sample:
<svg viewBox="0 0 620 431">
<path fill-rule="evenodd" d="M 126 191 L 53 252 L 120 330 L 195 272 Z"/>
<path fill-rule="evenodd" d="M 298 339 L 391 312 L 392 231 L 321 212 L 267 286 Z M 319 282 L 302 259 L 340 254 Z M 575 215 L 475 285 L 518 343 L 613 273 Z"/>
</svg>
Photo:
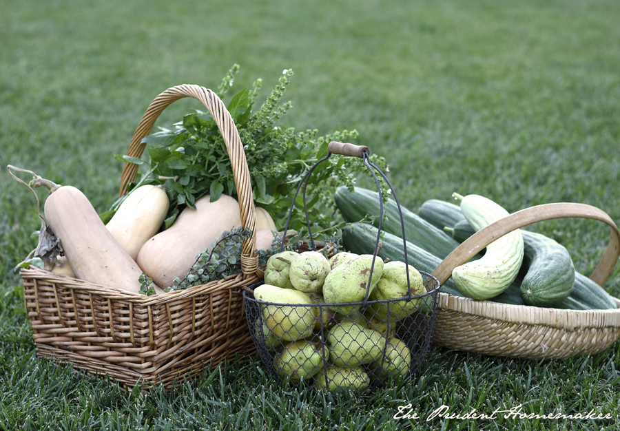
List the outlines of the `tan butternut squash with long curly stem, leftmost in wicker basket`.
<svg viewBox="0 0 620 431">
<path fill-rule="evenodd" d="M 106 229 L 84 193 L 72 186 L 43 185 L 51 191 L 45 200 L 45 218 L 61 241 L 75 275 L 139 293 L 140 267 Z M 161 293 L 158 287 L 156 291 Z"/>
</svg>

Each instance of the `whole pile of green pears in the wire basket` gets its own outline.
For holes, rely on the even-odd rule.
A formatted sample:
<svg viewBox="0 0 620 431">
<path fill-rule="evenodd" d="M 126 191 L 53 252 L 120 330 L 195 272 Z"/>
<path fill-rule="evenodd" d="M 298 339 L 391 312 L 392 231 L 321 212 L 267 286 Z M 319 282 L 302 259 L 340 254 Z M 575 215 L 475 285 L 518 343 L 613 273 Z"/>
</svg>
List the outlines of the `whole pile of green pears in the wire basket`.
<svg viewBox="0 0 620 431">
<path fill-rule="evenodd" d="M 404 262 L 375 257 L 373 264 L 373 255 L 344 251 L 329 260 L 317 251 L 272 255 L 265 284 L 254 289 L 254 298 L 268 303 L 260 304 L 256 338 L 281 377 L 318 390 L 364 389 L 404 377 L 411 352 L 395 328 L 422 299 L 406 299 L 407 272 L 411 295 L 426 293 L 422 275 Z M 368 301 L 390 301 L 364 305 L 367 291 Z"/>
</svg>

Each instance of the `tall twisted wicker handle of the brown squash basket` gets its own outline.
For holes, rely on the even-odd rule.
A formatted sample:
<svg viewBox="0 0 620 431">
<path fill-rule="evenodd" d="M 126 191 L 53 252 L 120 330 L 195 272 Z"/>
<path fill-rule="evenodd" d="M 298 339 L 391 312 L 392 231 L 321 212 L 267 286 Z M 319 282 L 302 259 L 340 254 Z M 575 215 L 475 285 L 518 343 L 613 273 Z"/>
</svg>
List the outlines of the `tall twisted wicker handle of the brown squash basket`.
<svg viewBox="0 0 620 431">
<path fill-rule="evenodd" d="M 226 109 L 224 103 L 211 90 L 200 87 L 198 85 L 178 85 L 171 87 L 165 92 L 159 94 L 154 101 L 151 102 L 148 109 L 142 116 L 136 132 L 127 150 L 127 156 L 140 157 L 146 147 L 141 143 L 150 132 L 163 110 L 178 101 L 180 98 L 193 97 L 202 102 L 209 110 L 209 113 L 215 120 L 220 133 L 224 138 L 224 143 L 228 151 L 231 161 L 235 185 L 237 188 L 237 196 L 239 201 L 239 209 L 241 211 L 241 224 L 243 227 L 251 229 L 252 236 L 243 242 L 241 252 L 241 269 L 244 274 L 256 273 L 258 269 L 258 255 L 256 253 L 256 210 L 254 209 L 254 197 L 252 196 L 252 187 L 245 158 L 243 144 L 237 131 L 237 127 Z M 121 174 L 120 196 L 126 193 L 127 185 L 136 179 L 138 173 L 138 165 L 133 163 L 125 163 L 123 173 Z"/>
</svg>

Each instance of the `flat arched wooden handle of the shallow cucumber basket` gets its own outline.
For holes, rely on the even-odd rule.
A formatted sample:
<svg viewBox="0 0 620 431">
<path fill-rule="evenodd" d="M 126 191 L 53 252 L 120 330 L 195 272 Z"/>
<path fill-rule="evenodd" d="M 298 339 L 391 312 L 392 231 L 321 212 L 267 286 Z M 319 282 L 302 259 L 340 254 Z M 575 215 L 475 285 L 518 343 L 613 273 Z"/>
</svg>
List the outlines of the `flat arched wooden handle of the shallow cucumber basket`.
<svg viewBox="0 0 620 431">
<path fill-rule="evenodd" d="M 527 226 L 528 224 L 565 217 L 592 218 L 610 225 L 611 236 L 609 244 L 603 254 L 601 262 L 599 262 L 595 271 L 590 275 L 590 279 L 600 286 L 603 286 L 611 275 L 618 261 L 618 257 L 620 256 L 620 231 L 605 211 L 588 204 L 571 202 L 542 204 L 536 207 L 521 209 L 521 211 L 517 211 L 501 220 L 497 220 L 495 223 L 489 224 L 484 229 L 471 235 L 471 237 L 462 242 L 452 253 L 446 256 L 442 263 L 435 268 L 433 275 L 437 277 L 437 280 L 439 280 L 441 284 L 444 284 L 446 280 L 452 276 L 453 269 L 470 260 L 476 253 L 484 249 L 484 247 L 488 246 L 491 242 L 497 240 L 497 238 L 506 235 L 506 233 Z"/>
</svg>

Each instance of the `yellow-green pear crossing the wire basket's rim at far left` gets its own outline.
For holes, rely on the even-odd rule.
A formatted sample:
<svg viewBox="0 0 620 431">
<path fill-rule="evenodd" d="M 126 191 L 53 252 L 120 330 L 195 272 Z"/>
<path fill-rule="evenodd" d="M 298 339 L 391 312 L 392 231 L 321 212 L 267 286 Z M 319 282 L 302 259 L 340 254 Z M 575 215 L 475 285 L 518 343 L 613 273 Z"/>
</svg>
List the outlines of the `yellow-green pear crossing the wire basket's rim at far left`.
<svg viewBox="0 0 620 431">
<path fill-rule="evenodd" d="M 265 324 L 280 340 L 295 341 L 312 334 L 316 319 L 311 299 L 303 292 L 261 284 L 254 289 L 254 298 L 276 304 L 261 304 Z M 304 305 L 305 304 L 305 305 Z"/>
</svg>

